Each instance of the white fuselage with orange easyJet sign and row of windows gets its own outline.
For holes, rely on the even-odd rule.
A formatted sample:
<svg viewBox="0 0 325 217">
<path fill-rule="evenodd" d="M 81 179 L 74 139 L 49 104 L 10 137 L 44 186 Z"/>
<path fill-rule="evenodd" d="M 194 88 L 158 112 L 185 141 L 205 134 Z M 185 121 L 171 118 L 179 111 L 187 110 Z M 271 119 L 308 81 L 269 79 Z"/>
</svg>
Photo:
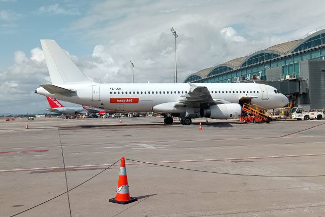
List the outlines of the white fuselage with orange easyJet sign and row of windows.
<svg viewBox="0 0 325 217">
<path fill-rule="evenodd" d="M 251 98 L 251 103 L 258 104 L 268 109 L 282 107 L 288 103 L 288 99 L 278 93 L 272 86 L 265 84 L 245 83 L 201 83 L 197 86 L 208 88 L 213 99 L 223 99 L 232 103 L 239 103 L 242 98 Z M 36 92 L 63 101 L 106 110 L 124 112 L 149 112 L 153 106 L 178 102 L 190 91 L 190 85 L 177 84 L 64 84 L 57 85 L 62 88 L 75 90 L 76 94 L 66 96 L 62 94 L 50 94 L 44 88 L 38 88 Z M 161 112 L 161 111 L 159 111 Z"/>
</svg>

